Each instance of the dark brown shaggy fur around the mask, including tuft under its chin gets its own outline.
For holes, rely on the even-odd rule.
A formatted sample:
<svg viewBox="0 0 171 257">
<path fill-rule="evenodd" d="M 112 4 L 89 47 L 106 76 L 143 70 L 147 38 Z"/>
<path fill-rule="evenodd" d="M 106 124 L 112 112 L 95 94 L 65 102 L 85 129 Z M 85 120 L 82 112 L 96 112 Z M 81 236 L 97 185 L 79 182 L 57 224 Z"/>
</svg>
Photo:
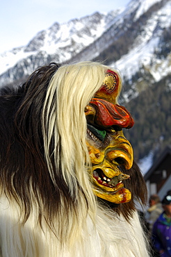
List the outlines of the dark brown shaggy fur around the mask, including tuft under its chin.
<svg viewBox="0 0 171 257">
<path fill-rule="evenodd" d="M 76 210 L 77 204 L 63 179 L 60 165 L 55 172 L 57 185 L 54 185 L 44 160 L 40 117 L 49 81 L 57 69 L 58 65 L 54 63 L 41 67 L 18 90 L 1 90 L 0 97 L 1 191 L 5 192 L 8 198 L 17 201 L 23 210 L 24 222 L 31 213 L 34 195 L 39 208 L 40 224 L 44 215 L 42 212 L 44 212 L 48 219 L 47 222 L 51 226 L 53 226 L 51 221 L 54 215 L 60 209 L 61 199 L 65 199 L 66 215 L 71 208 Z M 53 142 L 51 144 L 53 145 Z M 56 169 L 53 158 L 51 163 Z M 131 191 L 132 199 L 127 204 L 120 204 L 114 210 L 122 213 L 129 221 L 129 217 L 132 217 L 133 211 L 136 209 L 135 199 L 139 199 L 142 204 L 145 204 L 147 188 L 136 163 L 133 163 L 133 167 L 129 170 L 124 167 L 120 167 L 120 169 L 131 177 L 124 181 L 124 185 Z M 40 201 L 43 203 L 44 210 L 41 209 Z"/>
</svg>

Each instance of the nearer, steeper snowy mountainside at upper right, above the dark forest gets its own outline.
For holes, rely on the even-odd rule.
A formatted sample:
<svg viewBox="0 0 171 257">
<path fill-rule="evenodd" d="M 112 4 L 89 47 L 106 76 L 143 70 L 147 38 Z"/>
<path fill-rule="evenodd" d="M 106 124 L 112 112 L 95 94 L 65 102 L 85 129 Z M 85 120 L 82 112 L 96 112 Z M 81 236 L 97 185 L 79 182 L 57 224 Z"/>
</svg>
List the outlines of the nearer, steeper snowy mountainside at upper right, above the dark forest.
<svg viewBox="0 0 171 257">
<path fill-rule="evenodd" d="M 84 60 L 86 56 L 91 60 L 105 60 L 106 64 L 119 69 L 127 81 L 124 101 L 129 101 L 139 94 L 136 84 L 132 83 L 136 74 L 139 73 L 139 82 L 144 81 L 145 76 L 155 82 L 170 74 L 171 42 L 169 37 L 165 38 L 170 30 L 170 0 L 132 0 L 113 19 L 111 27 L 72 61 Z M 167 56 L 162 53 L 166 47 Z"/>
</svg>

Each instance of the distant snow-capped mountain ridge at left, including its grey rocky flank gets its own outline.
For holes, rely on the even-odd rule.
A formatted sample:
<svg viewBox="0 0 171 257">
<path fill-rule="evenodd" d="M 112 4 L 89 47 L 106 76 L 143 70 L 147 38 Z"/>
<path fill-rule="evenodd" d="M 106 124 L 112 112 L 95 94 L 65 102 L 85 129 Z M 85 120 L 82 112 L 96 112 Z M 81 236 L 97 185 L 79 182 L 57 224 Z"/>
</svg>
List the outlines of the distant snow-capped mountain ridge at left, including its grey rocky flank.
<svg viewBox="0 0 171 257">
<path fill-rule="evenodd" d="M 70 60 L 108 30 L 119 12 L 94 13 L 65 24 L 55 22 L 47 30 L 38 32 L 26 46 L 1 53 L 0 85 L 13 83 L 52 60 L 56 63 Z"/>
</svg>

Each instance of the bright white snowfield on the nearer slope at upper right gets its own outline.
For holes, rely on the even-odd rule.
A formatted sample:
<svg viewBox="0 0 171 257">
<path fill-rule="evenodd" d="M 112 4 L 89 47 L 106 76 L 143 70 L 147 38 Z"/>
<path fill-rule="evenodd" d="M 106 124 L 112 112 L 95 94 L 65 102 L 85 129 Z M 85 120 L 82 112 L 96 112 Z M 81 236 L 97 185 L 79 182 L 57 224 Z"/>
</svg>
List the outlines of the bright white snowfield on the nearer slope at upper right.
<svg viewBox="0 0 171 257">
<path fill-rule="evenodd" d="M 143 1 L 145 6 L 147 2 L 150 1 Z M 145 6 L 143 7 L 145 8 Z M 140 13 L 142 13 L 142 7 L 135 15 L 136 19 Z M 131 79 L 133 74 L 144 66 L 150 69 L 154 81 L 160 81 L 162 76 L 171 72 L 171 56 L 169 55 L 165 60 L 156 59 L 154 51 L 158 48 L 163 29 L 169 26 L 171 26 L 171 1 L 166 2 L 163 8 L 154 12 L 152 17 L 147 20 L 146 27 L 136 38 L 129 53 L 111 65 L 120 69 L 121 74 L 124 74 L 127 79 Z"/>
</svg>

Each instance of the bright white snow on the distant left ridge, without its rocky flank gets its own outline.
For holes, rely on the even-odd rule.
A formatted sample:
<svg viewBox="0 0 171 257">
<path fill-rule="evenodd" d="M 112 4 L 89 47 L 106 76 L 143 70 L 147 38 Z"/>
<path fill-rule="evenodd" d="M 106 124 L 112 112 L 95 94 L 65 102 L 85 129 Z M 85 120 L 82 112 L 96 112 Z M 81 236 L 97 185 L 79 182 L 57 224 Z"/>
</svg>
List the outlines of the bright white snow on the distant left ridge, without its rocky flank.
<svg viewBox="0 0 171 257">
<path fill-rule="evenodd" d="M 113 13 L 113 16 L 115 13 Z M 59 62 L 69 60 L 72 55 L 79 53 L 82 49 L 99 38 L 108 27 L 111 19 L 101 15 L 97 23 L 91 23 L 92 16 L 74 19 L 65 24 L 54 24 L 44 31 L 40 31 L 33 38 L 28 46 L 36 44 L 36 51 L 30 51 L 28 46 L 6 51 L 0 54 L 0 74 L 3 74 L 19 61 L 24 60 L 31 55 L 44 51 L 47 54 L 59 53 Z M 35 42 L 34 42 L 35 41 Z"/>
</svg>

